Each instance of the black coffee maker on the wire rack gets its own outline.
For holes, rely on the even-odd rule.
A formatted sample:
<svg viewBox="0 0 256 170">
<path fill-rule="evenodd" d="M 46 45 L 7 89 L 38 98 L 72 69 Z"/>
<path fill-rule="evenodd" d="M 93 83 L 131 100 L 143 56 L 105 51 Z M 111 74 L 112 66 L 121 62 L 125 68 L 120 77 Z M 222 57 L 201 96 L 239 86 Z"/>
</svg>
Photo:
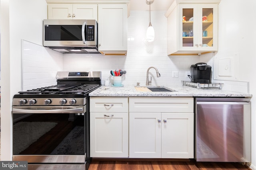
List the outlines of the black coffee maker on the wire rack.
<svg viewBox="0 0 256 170">
<path fill-rule="evenodd" d="M 194 83 L 210 83 L 212 67 L 206 63 L 196 63 L 190 66 L 191 81 Z"/>
</svg>

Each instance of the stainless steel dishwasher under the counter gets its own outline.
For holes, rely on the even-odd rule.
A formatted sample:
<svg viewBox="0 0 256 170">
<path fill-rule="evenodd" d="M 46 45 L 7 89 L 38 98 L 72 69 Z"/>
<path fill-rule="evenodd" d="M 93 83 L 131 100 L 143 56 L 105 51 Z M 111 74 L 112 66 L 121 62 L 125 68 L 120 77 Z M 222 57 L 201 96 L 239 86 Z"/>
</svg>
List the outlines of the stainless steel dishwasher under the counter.
<svg viewBox="0 0 256 170">
<path fill-rule="evenodd" d="M 251 161 L 250 98 L 196 98 L 195 109 L 196 161 Z"/>
</svg>

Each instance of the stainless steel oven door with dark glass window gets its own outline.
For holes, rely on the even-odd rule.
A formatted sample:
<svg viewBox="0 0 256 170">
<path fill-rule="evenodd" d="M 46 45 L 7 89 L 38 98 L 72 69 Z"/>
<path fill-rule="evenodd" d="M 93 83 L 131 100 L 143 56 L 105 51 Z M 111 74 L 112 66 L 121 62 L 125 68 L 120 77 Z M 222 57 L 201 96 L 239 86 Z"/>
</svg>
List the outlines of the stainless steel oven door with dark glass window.
<svg viewBox="0 0 256 170">
<path fill-rule="evenodd" d="M 85 163 L 86 106 L 13 106 L 13 160 Z"/>
</svg>

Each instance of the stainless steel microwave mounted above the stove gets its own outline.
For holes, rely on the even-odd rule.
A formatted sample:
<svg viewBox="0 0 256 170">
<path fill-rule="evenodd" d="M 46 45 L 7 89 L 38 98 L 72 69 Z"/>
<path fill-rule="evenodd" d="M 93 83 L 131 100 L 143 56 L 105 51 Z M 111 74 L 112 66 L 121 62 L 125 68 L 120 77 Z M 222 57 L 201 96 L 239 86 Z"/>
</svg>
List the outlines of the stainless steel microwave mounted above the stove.
<svg viewBox="0 0 256 170">
<path fill-rule="evenodd" d="M 99 53 L 96 20 L 44 20 L 43 45 L 60 53 Z"/>
</svg>

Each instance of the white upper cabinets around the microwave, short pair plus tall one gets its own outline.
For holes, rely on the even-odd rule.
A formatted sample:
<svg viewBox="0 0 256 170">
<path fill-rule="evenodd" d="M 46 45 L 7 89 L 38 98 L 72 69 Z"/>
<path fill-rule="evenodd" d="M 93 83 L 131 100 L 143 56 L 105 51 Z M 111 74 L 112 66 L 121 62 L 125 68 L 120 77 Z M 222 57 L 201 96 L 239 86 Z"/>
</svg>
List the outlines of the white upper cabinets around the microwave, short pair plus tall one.
<svg viewBox="0 0 256 170">
<path fill-rule="evenodd" d="M 48 19 L 97 20 L 98 51 L 103 55 L 126 55 L 128 0 L 46 0 Z"/>
</svg>

